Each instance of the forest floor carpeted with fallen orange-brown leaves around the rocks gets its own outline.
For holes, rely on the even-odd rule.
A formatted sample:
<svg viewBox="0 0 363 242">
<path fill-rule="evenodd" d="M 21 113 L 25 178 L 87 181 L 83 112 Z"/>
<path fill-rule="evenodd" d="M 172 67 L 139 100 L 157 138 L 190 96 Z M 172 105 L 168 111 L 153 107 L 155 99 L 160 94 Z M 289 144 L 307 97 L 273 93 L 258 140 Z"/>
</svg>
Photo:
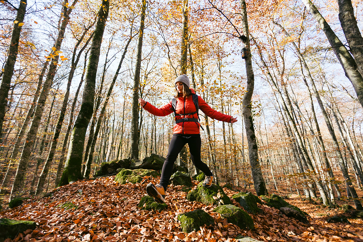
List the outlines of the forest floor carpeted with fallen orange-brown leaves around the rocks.
<svg viewBox="0 0 363 242">
<path fill-rule="evenodd" d="M 304 201 L 297 195 L 286 199 L 309 214 L 310 224 L 298 222 L 281 214 L 279 210 L 258 205 L 263 213 L 250 214 L 254 230 L 242 230 L 227 223 L 213 212 L 215 206 L 185 200 L 181 186 L 170 186 L 167 190 L 164 211 L 146 211 L 137 207 L 146 194 L 146 177 L 139 184 L 120 185 L 114 176 L 96 180 L 82 180 L 62 186 L 48 197 L 24 200 L 23 205 L 3 209 L 1 218 L 32 220 L 37 222 L 36 230 L 27 230 L 13 241 L 31 242 L 80 242 L 80 241 L 236 241 L 237 235 L 249 236 L 260 241 L 349 241 L 363 242 L 363 221 L 349 219 L 348 223 L 327 223 L 326 218 L 342 210 L 328 209 L 317 201 Z M 195 182 L 197 184 L 197 182 Z M 224 188 L 229 197 L 237 193 Z M 252 191 L 253 192 L 253 191 Z M 359 197 L 362 197 L 359 190 Z M 288 195 L 283 192 L 280 196 Z M 234 200 L 232 200 L 234 201 Z M 339 201 L 352 204 L 352 201 Z M 234 205 L 239 206 L 237 202 Z M 214 226 L 202 227 L 189 234 L 181 232 L 177 217 L 181 213 L 203 209 L 215 220 Z M 7 239 L 6 242 L 10 242 Z"/>
</svg>

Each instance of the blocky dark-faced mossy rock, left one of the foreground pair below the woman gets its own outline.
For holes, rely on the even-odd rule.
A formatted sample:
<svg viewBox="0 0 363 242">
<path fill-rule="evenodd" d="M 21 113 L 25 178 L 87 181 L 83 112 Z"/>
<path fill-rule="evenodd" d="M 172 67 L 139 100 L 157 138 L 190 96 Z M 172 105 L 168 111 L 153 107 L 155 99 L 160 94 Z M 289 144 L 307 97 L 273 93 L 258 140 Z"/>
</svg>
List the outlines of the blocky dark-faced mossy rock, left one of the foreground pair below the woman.
<svg viewBox="0 0 363 242">
<path fill-rule="evenodd" d="M 200 226 L 213 225 L 214 220 L 212 216 L 204 212 L 204 210 L 196 209 L 191 212 L 178 215 L 180 221 L 181 231 L 184 233 L 190 233 L 191 231 L 200 230 Z"/>
</svg>

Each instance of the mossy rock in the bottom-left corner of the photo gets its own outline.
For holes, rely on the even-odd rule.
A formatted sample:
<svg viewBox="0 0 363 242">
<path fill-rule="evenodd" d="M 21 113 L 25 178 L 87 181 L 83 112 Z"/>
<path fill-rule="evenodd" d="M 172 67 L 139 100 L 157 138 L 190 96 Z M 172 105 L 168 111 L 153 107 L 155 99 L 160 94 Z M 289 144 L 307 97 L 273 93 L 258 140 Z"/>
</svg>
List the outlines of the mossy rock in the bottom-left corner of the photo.
<svg viewBox="0 0 363 242">
<path fill-rule="evenodd" d="M 33 221 L 0 218 L 0 241 L 7 238 L 15 239 L 18 233 L 23 233 L 27 229 L 34 230 L 36 227 L 37 225 Z"/>
</svg>

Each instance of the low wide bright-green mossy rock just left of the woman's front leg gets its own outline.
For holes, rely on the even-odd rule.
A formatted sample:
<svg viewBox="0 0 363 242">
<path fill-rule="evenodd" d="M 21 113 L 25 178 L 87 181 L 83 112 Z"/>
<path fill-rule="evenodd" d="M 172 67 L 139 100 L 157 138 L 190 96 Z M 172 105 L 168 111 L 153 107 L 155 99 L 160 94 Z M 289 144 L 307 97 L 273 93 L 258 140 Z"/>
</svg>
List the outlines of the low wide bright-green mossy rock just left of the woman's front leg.
<svg viewBox="0 0 363 242">
<path fill-rule="evenodd" d="M 157 177 L 159 176 L 158 171 L 153 170 L 146 170 L 146 169 L 122 169 L 115 177 L 115 181 L 119 182 L 120 184 L 126 184 L 127 180 L 128 182 L 131 182 L 132 184 L 136 184 L 138 182 L 141 182 L 143 180 L 143 177 L 145 176 L 152 176 Z"/>
</svg>

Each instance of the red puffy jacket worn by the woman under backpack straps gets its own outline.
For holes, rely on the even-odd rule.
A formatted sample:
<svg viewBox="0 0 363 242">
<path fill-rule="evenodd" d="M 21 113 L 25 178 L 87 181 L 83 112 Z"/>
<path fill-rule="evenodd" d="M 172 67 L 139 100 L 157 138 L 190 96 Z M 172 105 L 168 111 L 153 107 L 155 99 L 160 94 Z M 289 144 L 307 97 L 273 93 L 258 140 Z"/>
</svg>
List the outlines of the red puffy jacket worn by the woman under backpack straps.
<svg viewBox="0 0 363 242">
<path fill-rule="evenodd" d="M 191 89 L 191 91 L 193 94 L 195 94 L 193 89 Z M 228 123 L 231 122 L 232 116 L 225 115 L 216 110 L 213 110 L 200 96 L 198 96 L 198 102 L 199 102 L 199 109 L 202 110 L 204 114 L 206 114 L 208 117 Z M 152 106 L 149 102 L 146 102 L 146 104 L 143 106 L 143 108 L 146 111 L 156 116 L 166 116 L 171 113 L 174 113 L 171 107 L 172 107 L 171 102 L 169 102 L 168 104 L 164 105 L 161 108 L 156 108 Z M 177 98 L 175 111 L 177 114 L 188 114 L 191 112 L 195 112 L 196 108 L 192 96 L 189 96 L 187 98 L 183 97 Z M 176 119 L 182 119 L 182 118 L 197 119 L 198 115 L 192 114 L 192 115 L 176 116 Z M 180 122 L 174 125 L 173 134 L 199 134 L 199 127 L 200 124 L 196 122 Z"/>
</svg>

